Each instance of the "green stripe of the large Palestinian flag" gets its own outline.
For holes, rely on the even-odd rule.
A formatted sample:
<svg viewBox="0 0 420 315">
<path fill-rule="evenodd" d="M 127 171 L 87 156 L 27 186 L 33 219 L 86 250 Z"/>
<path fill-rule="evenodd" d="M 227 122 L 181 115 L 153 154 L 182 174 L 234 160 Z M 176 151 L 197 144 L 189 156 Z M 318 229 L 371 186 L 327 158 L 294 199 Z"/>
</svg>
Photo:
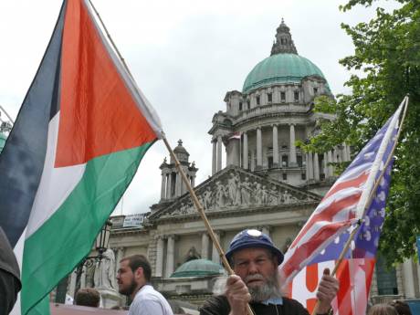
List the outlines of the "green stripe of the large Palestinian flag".
<svg viewBox="0 0 420 315">
<path fill-rule="evenodd" d="M 101 227 L 131 183 L 142 156 L 152 143 L 89 161 L 82 179 L 63 205 L 26 239 L 22 314 L 89 254 Z"/>
</svg>

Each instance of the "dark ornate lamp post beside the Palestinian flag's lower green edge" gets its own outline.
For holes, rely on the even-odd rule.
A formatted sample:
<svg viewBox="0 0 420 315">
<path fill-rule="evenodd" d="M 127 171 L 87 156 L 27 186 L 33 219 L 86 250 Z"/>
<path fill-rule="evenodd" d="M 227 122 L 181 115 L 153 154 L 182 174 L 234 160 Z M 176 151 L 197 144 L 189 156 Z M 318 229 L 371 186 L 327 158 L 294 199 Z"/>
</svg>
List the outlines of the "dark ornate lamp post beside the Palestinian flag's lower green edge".
<svg viewBox="0 0 420 315">
<path fill-rule="evenodd" d="M 100 230 L 100 234 L 96 236 L 95 240 L 95 249 L 98 252 L 98 255 L 96 256 L 89 256 L 85 257 L 80 263 L 78 268 L 76 268 L 76 289 L 75 289 L 75 295 L 80 289 L 80 278 L 83 274 L 83 267 L 91 268 L 95 265 L 96 262 L 100 262 L 102 259 L 103 253 L 107 250 L 108 245 L 110 243 L 110 228 L 112 226 L 112 222 L 110 222 L 110 219 L 105 222 L 105 225 Z"/>
</svg>

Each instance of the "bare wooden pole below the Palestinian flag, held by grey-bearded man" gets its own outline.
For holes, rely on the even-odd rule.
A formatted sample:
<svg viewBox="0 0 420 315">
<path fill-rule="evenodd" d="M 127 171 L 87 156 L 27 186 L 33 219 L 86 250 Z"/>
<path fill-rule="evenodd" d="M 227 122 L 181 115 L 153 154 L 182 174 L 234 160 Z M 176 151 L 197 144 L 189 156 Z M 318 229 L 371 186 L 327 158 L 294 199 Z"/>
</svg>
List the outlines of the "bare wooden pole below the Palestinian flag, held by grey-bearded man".
<svg viewBox="0 0 420 315">
<path fill-rule="evenodd" d="M 222 259 L 223 266 L 225 267 L 225 269 L 226 269 L 226 271 L 229 275 L 235 275 L 234 270 L 230 267 L 229 262 L 226 259 L 225 252 L 223 251 L 223 248 L 220 246 L 220 243 L 219 243 L 217 237 L 215 236 L 215 232 L 213 231 L 213 227 L 210 226 L 210 223 L 208 222 L 207 215 L 205 215 L 205 209 L 200 204 L 196 194 L 194 193 L 194 189 L 191 186 L 190 181 L 188 181 L 188 178 L 186 177 L 186 175 L 184 173 L 184 170 L 181 167 L 181 164 L 179 163 L 178 159 L 176 158 L 176 155 L 174 154 L 171 146 L 169 145 L 169 142 L 166 139 L 166 136 L 164 135 L 164 133 L 162 135 L 162 140 L 163 140 L 163 142 L 166 146 L 166 149 L 168 149 L 171 157 L 173 158 L 175 166 L 178 169 L 179 173 L 181 174 L 181 177 L 183 178 L 184 184 L 186 185 L 186 187 L 188 189 L 188 192 L 190 192 L 191 198 L 193 199 L 195 209 L 198 211 L 199 215 L 201 216 L 201 218 L 203 219 L 203 221 L 205 223 L 205 228 L 207 229 L 207 233 L 210 236 L 210 238 L 212 239 L 213 244 L 215 245 L 215 248 L 217 249 L 217 252 L 219 253 L 219 257 Z M 249 306 L 249 304 L 247 304 L 247 313 L 248 313 L 248 315 L 254 315 L 254 312 L 251 309 L 251 307 Z"/>
</svg>

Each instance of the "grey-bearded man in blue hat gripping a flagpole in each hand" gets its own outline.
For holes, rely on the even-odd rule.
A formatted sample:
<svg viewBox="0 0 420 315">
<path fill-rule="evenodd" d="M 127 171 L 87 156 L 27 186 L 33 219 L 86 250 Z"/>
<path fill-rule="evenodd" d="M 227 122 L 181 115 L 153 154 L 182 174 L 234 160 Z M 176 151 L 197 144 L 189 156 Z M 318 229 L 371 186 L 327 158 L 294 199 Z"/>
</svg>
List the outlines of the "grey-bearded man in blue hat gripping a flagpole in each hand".
<svg viewBox="0 0 420 315">
<path fill-rule="evenodd" d="M 200 315 L 246 315 L 247 303 L 256 315 L 309 315 L 297 300 L 282 296 L 278 265 L 283 254 L 271 239 L 258 230 L 238 233 L 226 252 L 235 271 L 227 278 L 226 293 L 205 301 Z M 338 281 L 324 271 L 317 292 L 318 315 L 329 314 Z"/>
</svg>

